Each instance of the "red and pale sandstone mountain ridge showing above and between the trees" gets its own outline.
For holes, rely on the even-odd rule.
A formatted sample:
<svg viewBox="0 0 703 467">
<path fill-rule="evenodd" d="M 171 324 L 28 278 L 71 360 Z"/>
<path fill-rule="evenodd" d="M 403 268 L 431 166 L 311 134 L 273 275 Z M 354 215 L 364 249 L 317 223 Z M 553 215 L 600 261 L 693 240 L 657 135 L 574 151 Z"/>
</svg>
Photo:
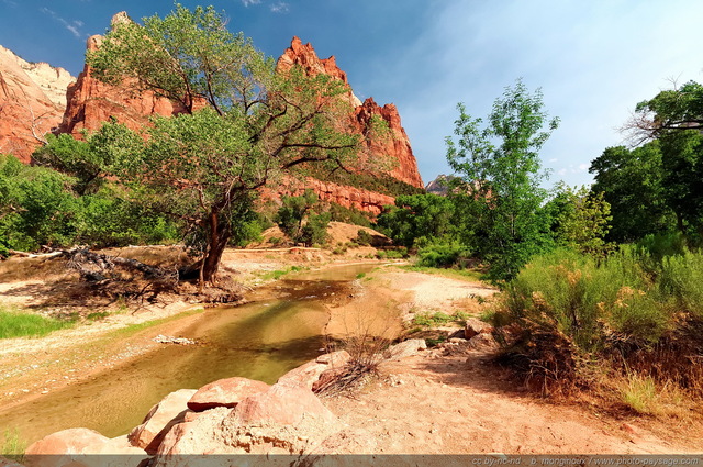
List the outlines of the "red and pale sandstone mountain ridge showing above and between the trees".
<svg viewBox="0 0 703 467">
<path fill-rule="evenodd" d="M 125 15 L 118 13 L 114 22 Z M 100 47 L 102 36 L 87 41 L 87 49 Z M 148 123 L 150 115 L 169 116 L 183 112 L 178 104 L 152 92 L 135 93 L 129 81 L 110 86 L 91 76 L 86 64 L 77 79 L 60 68 L 46 64 L 32 67 L 10 51 L 0 47 L 0 153 L 10 153 L 29 163 L 32 152 L 42 144 L 43 135 L 49 131 L 71 133 L 80 137 L 83 130 L 94 131 L 110 118 L 115 118 L 131 129 Z M 388 156 L 393 162 L 388 175 L 415 188 L 424 188 L 417 170 L 408 135 L 401 124 L 400 114 L 393 104 L 380 107 L 372 98 L 361 102 L 338 68 L 335 57 L 321 59 L 311 44 L 293 37 L 291 46 L 278 59 L 277 69 L 303 67 L 309 75 L 326 74 L 342 80 L 348 88 L 349 103 L 354 111 L 346 122 L 360 135 L 370 134 L 371 121 L 380 118 L 387 122 L 390 137 L 365 138 L 364 153 L 369 157 Z M 48 79 L 54 74 L 56 79 Z M 31 102 L 31 103 L 27 103 Z M 377 193 L 359 187 L 308 179 L 305 185 L 317 192 L 321 199 L 342 205 L 378 214 L 382 207 L 393 202 L 388 194 Z"/>
</svg>

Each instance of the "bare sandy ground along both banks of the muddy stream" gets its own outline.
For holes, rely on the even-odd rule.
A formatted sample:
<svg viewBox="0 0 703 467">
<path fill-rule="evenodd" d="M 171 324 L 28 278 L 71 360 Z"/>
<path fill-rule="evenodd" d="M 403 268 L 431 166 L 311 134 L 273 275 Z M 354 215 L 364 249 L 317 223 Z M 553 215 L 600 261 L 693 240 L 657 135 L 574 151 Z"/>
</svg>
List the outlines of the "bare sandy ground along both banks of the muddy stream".
<svg viewBox="0 0 703 467">
<path fill-rule="evenodd" d="M 300 259 L 304 258 L 303 252 L 287 254 Z M 310 251 L 308 253 L 315 254 Z M 332 267 L 330 257 L 317 262 L 304 258 L 302 262 L 306 266 L 303 266 L 302 262 L 281 260 L 278 253 L 237 252 L 232 256 L 235 255 L 241 269 L 246 264 L 252 271 L 261 267 L 267 267 L 269 273 L 289 270 L 282 276 L 284 278 L 304 276 L 305 267 Z M 227 262 L 232 262 L 230 255 L 226 257 Z M 368 264 L 380 266 L 380 263 Z M 234 267 L 233 263 L 227 265 Z M 302 270 L 291 273 L 292 266 Z M 252 277 L 264 283 L 272 280 L 274 276 L 271 274 L 268 279 L 255 275 Z M 276 282 L 268 282 L 268 286 L 254 288 L 249 297 L 263 300 L 277 293 L 277 287 Z M 473 280 L 398 267 L 378 267 L 359 274 L 352 289 L 343 297 L 331 297 L 328 309 L 332 313 L 326 332 L 344 338 L 345 333 L 358 331 L 350 323 L 368 323 L 370 316 L 382 318 L 377 330 L 392 331 L 403 329 L 403 319 L 411 321 L 413 315 L 419 314 L 462 311 L 476 315 L 480 314 L 480 304 L 493 292 L 494 289 Z M 388 313 L 386 318 L 383 310 Z M 179 329 L 183 329 L 191 316 L 196 319 L 200 314 L 190 311 L 194 314 L 182 316 L 179 314 L 181 312 L 182 309 L 175 311 L 159 323 L 165 329 L 170 329 L 169 335 L 177 336 Z M 124 314 L 142 319 L 145 313 L 148 314 L 145 311 L 134 315 Z M 51 379 L 56 385 L 78 383 L 90 378 L 90 375 L 109 371 L 114 365 L 138 359 L 149 349 L 163 345 L 152 341 L 155 330 L 147 323 L 148 320 L 142 324 L 108 331 L 108 334 L 116 333 L 109 336 L 113 346 L 100 347 L 100 340 L 91 341 L 88 337 L 76 344 L 76 338 L 66 337 L 68 334 L 64 334 L 63 338 L 55 335 L 47 337 L 46 342 L 55 340 L 53 347 L 44 347 L 42 340 L 36 340 L 36 348 L 26 351 L 27 355 L 23 358 L 26 358 L 24 362 L 27 364 L 24 368 L 38 365 L 26 371 L 34 375 L 34 382 L 38 386 L 29 392 L 22 391 L 23 394 L 18 398 L 8 398 L 5 394 L 5 402 L 21 404 L 31 398 L 46 396 L 42 393 L 44 390 L 51 393 L 55 390 L 47 386 Z M 172 327 L 169 327 L 171 324 Z M 140 325 L 144 327 L 138 327 Z M 164 333 L 163 330 L 164 327 L 159 327 L 159 333 Z M 71 331 L 76 330 L 58 333 Z M 72 344 L 67 344 L 67 341 L 72 341 Z M 684 453 L 699 448 L 698 442 L 703 433 L 700 418 L 678 421 L 627 414 L 614 418 L 600 412 L 598 407 L 584 409 L 574 403 L 549 403 L 512 386 L 506 374 L 487 363 L 490 353 L 469 348 L 465 343 L 466 341 L 448 342 L 402 360 L 384 363 L 380 368 L 380 377 L 353 398 L 336 396 L 323 399 L 324 404 L 339 420 L 339 435 L 335 436 L 335 444 L 328 446 L 330 449 L 338 453 L 379 454 L 527 454 Z M 99 347 L 101 351 L 98 351 Z M 91 355 L 93 351 L 97 353 Z M 56 363 L 42 365 L 42 358 Z M 30 364 L 33 359 L 36 363 Z M 3 365 L 4 362 L 3 358 Z M 70 371 L 81 365 L 85 371 Z M 57 371 L 58 369 L 62 371 Z M 63 378 L 64 376 L 68 378 Z M 12 380 L 31 381 L 22 378 L 25 376 L 20 368 Z"/>
</svg>

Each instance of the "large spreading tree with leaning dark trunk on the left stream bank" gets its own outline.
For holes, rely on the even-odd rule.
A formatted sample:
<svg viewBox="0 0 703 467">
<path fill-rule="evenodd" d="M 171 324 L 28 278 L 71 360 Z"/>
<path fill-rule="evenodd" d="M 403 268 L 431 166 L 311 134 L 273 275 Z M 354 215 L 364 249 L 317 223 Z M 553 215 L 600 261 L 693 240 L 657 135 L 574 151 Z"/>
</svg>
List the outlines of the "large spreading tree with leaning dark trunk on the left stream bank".
<svg viewBox="0 0 703 467">
<path fill-rule="evenodd" d="M 276 73 L 274 60 L 231 34 L 212 7 L 177 4 L 143 23 L 113 25 L 88 56 L 93 76 L 127 80 L 179 102 L 185 113 L 156 118 L 127 157 L 113 157 L 113 174 L 194 229 L 203 255 L 181 276 L 212 281 L 241 207 L 257 189 L 301 164 L 333 168 L 355 159 L 359 136 L 341 123 L 350 112 L 347 89 L 299 67 Z M 100 132 L 114 135 L 118 126 L 129 133 L 114 122 Z"/>
</svg>

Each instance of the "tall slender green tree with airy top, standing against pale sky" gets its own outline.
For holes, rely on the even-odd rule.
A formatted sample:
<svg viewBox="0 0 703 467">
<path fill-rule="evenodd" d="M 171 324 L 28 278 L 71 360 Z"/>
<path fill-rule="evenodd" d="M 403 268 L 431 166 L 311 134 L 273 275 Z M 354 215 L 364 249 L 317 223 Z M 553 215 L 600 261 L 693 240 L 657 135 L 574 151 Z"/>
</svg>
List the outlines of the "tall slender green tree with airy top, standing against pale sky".
<svg viewBox="0 0 703 467">
<path fill-rule="evenodd" d="M 531 93 L 521 80 L 495 100 L 484 127 L 464 104 L 457 108 L 447 160 L 476 200 L 476 218 L 467 221 L 484 238 L 479 253 L 493 278 L 509 279 L 549 242 L 545 216 L 537 215 L 547 197 L 539 149 L 559 120 L 549 120 L 542 92 Z"/>
</svg>

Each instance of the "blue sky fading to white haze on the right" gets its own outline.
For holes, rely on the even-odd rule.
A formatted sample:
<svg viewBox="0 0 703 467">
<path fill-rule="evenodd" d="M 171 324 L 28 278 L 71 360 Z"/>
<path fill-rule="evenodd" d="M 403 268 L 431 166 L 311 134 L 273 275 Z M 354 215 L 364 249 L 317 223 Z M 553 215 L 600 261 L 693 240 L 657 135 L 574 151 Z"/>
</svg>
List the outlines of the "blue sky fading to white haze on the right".
<svg viewBox="0 0 703 467">
<path fill-rule="evenodd" d="M 425 182 L 449 173 L 444 137 L 456 104 L 486 116 L 506 86 L 542 88 L 561 119 L 542 152 L 550 185 L 591 182 L 590 162 L 624 143 L 635 104 L 703 81 L 698 0 L 210 0 L 278 57 L 293 35 L 335 55 L 355 93 L 394 103 Z M 85 42 L 110 18 L 172 9 L 168 0 L 0 0 L 0 45 L 78 75 Z"/>
</svg>

